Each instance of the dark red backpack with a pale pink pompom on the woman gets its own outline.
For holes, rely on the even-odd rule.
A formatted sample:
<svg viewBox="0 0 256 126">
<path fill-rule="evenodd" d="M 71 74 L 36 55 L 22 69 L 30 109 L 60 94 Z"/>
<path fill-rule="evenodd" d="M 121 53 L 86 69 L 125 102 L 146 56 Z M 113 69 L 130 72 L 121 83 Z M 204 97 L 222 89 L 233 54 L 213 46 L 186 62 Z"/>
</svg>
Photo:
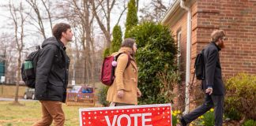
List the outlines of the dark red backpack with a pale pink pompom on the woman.
<svg viewBox="0 0 256 126">
<path fill-rule="evenodd" d="M 115 80 L 115 67 L 117 65 L 117 59 L 119 56 L 124 53 L 119 53 L 115 56 L 107 56 L 104 58 L 102 67 L 101 67 L 101 78 L 100 81 L 104 83 L 107 86 L 111 86 L 111 84 Z M 128 56 L 128 63 L 126 65 L 126 68 L 130 65 L 130 55 L 126 54 Z"/>
</svg>

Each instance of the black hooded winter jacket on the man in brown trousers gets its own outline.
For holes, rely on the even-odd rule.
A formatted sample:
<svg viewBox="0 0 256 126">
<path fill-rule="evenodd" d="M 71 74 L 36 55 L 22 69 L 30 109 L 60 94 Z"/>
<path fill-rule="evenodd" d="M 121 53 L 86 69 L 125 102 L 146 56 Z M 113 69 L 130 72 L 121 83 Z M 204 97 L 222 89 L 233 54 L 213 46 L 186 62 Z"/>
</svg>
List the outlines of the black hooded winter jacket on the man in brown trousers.
<svg viewBox="0 0 256 126">
<path fill-rule="evenodd" d="M 65 102 L 70 66 L 66 47 L 55 37 L 45 39 L 42 47 L 36 65 L 36 99 Z"/>
</svg>

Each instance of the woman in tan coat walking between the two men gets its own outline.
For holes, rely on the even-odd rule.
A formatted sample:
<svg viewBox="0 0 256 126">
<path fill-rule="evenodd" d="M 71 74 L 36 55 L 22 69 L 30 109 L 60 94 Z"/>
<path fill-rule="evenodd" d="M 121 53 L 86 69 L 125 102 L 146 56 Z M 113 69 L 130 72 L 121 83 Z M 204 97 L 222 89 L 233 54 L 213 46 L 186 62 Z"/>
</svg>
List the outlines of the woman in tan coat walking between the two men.
<svg viewBox="0 0 256 126">
<path fill-rule="evenodd" d="M 123 53 L 117 59 L 114 83 L 107 91 L 107 101 L 111 102 L 111 106 L 137 105 L 137 98 L 141 97 L 141 91 L 137 88 L 137 64 L 134 60 L 136 50 L 134 39 L 124 39 L 119 52 L 112 54 Z"/>
</svg>

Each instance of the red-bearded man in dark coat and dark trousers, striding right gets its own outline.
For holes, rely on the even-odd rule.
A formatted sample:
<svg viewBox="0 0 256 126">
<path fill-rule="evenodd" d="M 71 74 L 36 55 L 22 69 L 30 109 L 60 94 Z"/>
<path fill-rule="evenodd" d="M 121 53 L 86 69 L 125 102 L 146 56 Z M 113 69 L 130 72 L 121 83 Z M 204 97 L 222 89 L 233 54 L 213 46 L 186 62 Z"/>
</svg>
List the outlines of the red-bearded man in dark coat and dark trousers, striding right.
<svg viewBox="0 0 256 126">
<path fill-rule="evenodd" d="M 197 119 L 202 114 L 214 107 L 215 126 L 223 123 L 223 108 L 225 88 L 221 76 L 219 51 L 224 48 L 226 40 L 223 30 L 213 31 L 212 42 L 205 47 L 205 80 L 202 80 L 202 89 L 205 91 L 205 102 L 191 113 L 180 117 L 183 126 Z"/>
</svg>

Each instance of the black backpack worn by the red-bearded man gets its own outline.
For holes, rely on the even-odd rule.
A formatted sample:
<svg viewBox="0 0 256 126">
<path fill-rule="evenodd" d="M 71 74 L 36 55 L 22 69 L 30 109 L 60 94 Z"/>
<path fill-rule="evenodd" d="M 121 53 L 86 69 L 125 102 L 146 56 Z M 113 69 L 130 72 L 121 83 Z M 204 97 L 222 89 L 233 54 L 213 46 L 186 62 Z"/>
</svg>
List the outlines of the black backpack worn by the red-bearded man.
<svg viewBox="0 0 256 126">
<path fill-rule="evenodd" d="M 205 80 L 205 61 L 204 61 L 204 51 L 197 55 L 196 60 L 194 61 L 194 76 L 197 76 L 198 80 Z M 194 82 L 194 76 L 192 83 Z"/>
</svg>

